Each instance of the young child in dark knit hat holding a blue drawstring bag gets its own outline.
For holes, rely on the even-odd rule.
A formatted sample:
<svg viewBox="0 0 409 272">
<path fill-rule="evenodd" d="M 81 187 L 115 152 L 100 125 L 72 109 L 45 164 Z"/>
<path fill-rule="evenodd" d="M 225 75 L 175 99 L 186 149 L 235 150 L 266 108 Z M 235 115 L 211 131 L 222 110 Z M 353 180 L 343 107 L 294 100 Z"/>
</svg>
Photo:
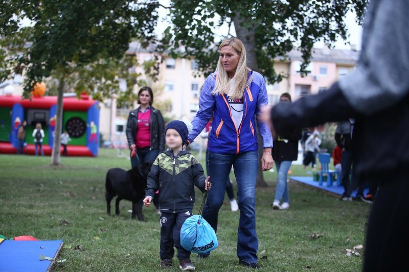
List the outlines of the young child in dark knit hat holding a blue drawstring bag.
<svg viewBox="0 0 409 272">
<path fill-rule="evenodd" d="M 179 268 L 194 270 L 190 252 L 180 245 L 180 228 L 192 215 L 195 201 L 194 186 L 202 192 L 210 190 L 210 177 L 205 177 L 200 163 L 189 152 L 182 150 L 188 140 L 188 127 L 182 121 L 171 121 L 165 128 L 165 142 L 168 150 L 155 159 L 148 175 L 148 186 L 144 204 L 152 203 L 155 191 L 159 189 L 161 208 L 162 268 L 172 267 L 173 246 L 177 249 Z"/>
</svg>

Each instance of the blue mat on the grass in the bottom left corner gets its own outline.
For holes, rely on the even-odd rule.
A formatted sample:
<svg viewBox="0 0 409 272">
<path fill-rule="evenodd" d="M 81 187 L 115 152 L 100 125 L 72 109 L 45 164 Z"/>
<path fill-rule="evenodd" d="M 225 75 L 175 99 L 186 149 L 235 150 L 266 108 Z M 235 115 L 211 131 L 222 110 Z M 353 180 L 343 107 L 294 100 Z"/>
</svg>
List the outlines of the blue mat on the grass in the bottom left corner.
<svg viewBox="0 0 409 272">
<path fill-rule="evenodd" d="M 62 240 L 12 241 L 0 244 L 0 271 L 51 271 L 54 261 L 40 261 L 40 255 L 57 258 Z"/>
</svg>

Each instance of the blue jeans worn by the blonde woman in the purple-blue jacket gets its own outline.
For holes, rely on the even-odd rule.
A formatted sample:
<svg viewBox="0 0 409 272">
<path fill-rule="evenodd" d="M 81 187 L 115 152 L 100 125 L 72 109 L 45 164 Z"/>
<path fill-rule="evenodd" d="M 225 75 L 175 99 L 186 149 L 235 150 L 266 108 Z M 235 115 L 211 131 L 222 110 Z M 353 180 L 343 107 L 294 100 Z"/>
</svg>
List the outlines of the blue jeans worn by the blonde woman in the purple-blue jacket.
<svg viewBox="0 0 409 272">
<path fill-rule="evenodd" d="M 203 218 L 217 231 L 217 217 L 223 204 L 226 183 L 232 165 L 237 181 L 237 199 L 240 220 L 237 237 L 239 261 L 257 263 L 258 240 L 256 234 L 256 178 L 258 167 L 257 151 L 241 154 L 218 154 L 209 152 L 209 176 L 212 189 L 203 209 Z"/>
</svg>

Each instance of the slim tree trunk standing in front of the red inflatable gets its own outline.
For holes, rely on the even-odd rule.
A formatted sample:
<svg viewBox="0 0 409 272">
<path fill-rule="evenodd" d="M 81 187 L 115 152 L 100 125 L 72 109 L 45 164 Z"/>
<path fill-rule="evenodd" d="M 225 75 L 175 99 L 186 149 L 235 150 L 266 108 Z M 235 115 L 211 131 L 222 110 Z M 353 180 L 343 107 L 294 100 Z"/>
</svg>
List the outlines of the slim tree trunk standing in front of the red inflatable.
<svg viewBox="0 0 409 272">
<path fill-rule="evenodd" d="M 61 128 L 62 128 L 62 97 L 64 94 L 64 78 L 62 77 L 58 83 L 58 95 L 57 95 L 57 112 L 55 120 L 54 130 L 54 144 L 53 152 L 51 155 L 51 165 L 59 166 L 61 164 Z"/>
</svg>

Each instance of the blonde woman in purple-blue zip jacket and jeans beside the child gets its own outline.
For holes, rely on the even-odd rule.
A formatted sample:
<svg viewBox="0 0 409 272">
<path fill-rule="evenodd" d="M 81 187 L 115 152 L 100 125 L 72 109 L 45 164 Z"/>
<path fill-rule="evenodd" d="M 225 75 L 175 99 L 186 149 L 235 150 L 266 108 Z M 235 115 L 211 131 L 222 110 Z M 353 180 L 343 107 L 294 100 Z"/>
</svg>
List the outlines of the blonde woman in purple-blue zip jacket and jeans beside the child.
<svg viewBox="0 0 409 272">
<path fill-rule="evenodd" d="M 192 143 L 205 128 L 212 114 L 209 132 L 209 176 L 213 182 L 203 217 L 217 230 L 218 212 L 223 203 L 226 182 L 232 165 L 237 180 L 240 222 L 237 240 L 239 263 L 258 268 L 255 192 L 258 167 L 258 144 L 255 115 L 268 104 L 263 76 L 246 66 L 246 51 L 237 38 L 224 40 L 219 46 L 216 72 L 206 79 L 199 99 L 199 111 L 188 137 Z M 272 137 L 269 127 L 258 122 L 263 139 L 262 169 L 272 167 Z M 209 255 L 199 255 L 208 257 Z"/>
</svg>

